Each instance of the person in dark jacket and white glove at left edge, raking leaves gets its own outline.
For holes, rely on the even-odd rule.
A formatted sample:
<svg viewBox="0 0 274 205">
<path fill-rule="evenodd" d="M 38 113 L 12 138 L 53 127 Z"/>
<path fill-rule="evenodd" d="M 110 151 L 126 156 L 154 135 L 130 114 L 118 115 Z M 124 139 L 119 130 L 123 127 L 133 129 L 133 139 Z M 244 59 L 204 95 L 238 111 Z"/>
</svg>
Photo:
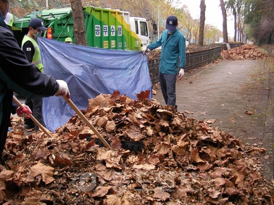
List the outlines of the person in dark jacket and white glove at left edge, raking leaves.
<svg viewBox="0 0 274 205">
<path fill-rule="evenodd" d="M 29 63 L 25 53 L 5 24 L 10 0 L 0 0 L 0 156 L 10 124 L 13 92 L 28 98 L 66 96 L 70 98 L 65 81 L 55 80 Z M 3 163 L 0 157 L 0 163 Z"/>
</svg>

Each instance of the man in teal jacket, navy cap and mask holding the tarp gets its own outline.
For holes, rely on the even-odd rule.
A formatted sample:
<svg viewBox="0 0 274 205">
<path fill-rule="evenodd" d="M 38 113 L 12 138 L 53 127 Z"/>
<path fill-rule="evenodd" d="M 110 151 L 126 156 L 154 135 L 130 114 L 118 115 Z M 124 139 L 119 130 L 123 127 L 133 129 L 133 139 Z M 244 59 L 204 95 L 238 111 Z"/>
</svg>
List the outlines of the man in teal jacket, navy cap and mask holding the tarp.
<svg viewBox="0 0 274 205">
<path fill-rule="evenodd" d="M 184 75 L 184 66 L 186 62 L 186 40 L 183 34 L 177 30 L 178 20 L 176 16 L 166 18 L 166 30 L 162 36 L 145 46 L 142 51 L 153 50 L 162 46 L 159 81 L 166 105 L 172 105 L 177 110 L 176 105 L 176 80 L 179 67 L 179 78 Z M 179 65 L 178 65 L 179 57 Z"/>
</svg>

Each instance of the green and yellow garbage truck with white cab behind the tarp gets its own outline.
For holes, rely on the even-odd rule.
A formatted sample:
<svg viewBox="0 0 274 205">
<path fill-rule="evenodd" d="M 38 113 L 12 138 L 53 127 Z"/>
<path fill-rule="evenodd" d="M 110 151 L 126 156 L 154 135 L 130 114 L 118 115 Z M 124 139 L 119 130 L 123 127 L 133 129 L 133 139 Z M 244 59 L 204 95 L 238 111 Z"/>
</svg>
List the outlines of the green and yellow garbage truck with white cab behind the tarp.
<svg viewBox="0 0 274 205">
<path fill-rule="evenodd" d="M 150 44 L 149 26 L 145 18 L 130 16 L 129 12 L 108 8 L 83 7 L 84 27 L 88 46 L 103 49 L 140 51 L 142 46 Z M 14 31 L 19 46 L 27 33 L 29 20 L 40 18 L 47 31 L 45 38 L 64 40 L 70 37 L 75 43 L 73 15 L 71 7 L 52 10 L 34 11 L 14 21 L 13 26 L 21 31 Z"/>
</svg>

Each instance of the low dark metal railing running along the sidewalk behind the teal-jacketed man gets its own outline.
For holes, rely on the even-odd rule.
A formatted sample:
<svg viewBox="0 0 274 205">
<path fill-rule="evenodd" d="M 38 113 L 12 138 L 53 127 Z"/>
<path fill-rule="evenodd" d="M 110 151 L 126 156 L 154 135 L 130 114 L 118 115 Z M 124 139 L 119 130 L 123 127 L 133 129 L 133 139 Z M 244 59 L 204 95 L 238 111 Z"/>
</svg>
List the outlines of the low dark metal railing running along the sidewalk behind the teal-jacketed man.
<svg viewBox="0 0 274 205">
<path fill-rule="evenodd" d="M 223 50 L 226 50 L 225 44 L 222 44 L 221 46 L 216 46 L 208 50 L 186 53 L 185 70 L 188 71 L 193 68 L 198 68 L 199 66 L 203 66 L 210 62 L 213 62 L 215 59 L 221 57 L 221 52 Z M 148 60 L 149 73 L 152 84 L 158 83 L 159 81 L 159 61 L 160 57 Z"/>
</svg>

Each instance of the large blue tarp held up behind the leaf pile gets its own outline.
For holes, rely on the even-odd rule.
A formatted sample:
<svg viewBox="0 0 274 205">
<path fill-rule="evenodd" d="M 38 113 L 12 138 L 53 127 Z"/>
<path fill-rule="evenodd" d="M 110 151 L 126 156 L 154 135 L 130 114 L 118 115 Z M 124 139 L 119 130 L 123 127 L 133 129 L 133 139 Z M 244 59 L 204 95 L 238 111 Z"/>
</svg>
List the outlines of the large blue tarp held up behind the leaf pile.
<svg viewBox="0 0 274 205">
<path fill-rule="evenodd" d="M 88 98 L 99 94 L 119 91 L 136 100 L 136 94 L 152 91 L 147 56 L 140 51 L 97 49 L 47 38 L 38 38 L 38 44 L 45 73 L 68 83 L 78 109 L 86 110 Z M 50 131 L 75 115 L 60 96 L 43 98 L 42 112 Z"/>
</svg>

